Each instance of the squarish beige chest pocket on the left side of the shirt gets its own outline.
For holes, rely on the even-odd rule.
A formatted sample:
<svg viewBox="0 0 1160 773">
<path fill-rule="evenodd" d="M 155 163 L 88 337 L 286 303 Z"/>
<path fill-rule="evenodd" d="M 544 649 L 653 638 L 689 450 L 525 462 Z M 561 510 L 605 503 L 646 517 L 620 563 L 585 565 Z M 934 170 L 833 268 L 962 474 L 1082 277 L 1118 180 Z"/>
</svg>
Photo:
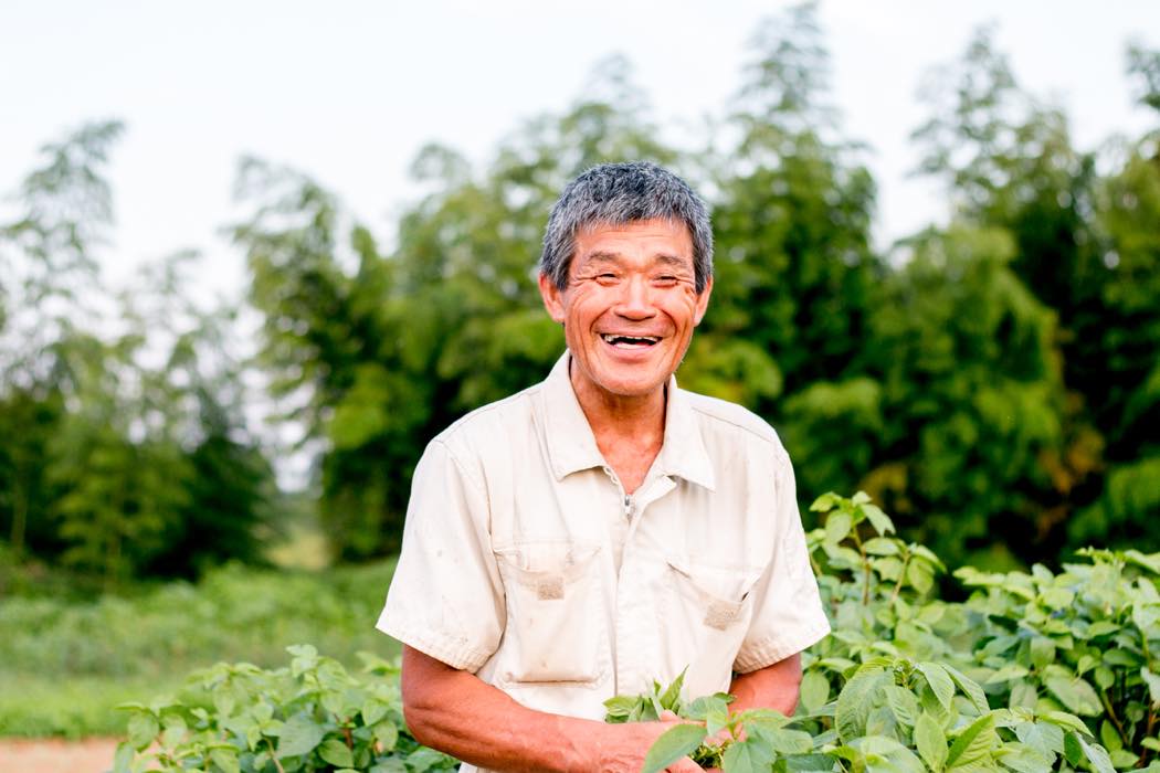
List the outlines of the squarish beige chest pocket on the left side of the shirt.
<svg viewBox="0 0 1160 773">
<path fill-rule="evenodd" d="M 500 683 L 592 683 L 602 676 L 600 546 L 520 542 L 498 548 L 507 595 Z"/>
</svg>

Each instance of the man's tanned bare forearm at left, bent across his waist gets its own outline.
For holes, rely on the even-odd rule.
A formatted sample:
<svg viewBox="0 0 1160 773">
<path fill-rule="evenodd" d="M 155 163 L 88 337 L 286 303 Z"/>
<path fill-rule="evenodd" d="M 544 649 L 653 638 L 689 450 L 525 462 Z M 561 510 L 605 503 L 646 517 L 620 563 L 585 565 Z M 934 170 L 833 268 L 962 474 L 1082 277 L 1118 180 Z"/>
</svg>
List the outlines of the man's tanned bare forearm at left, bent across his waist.
<svg viewBox="0 0 1160 773">
<path fill-rule="evenodd" d="M 473 673 L 403 648 L 403 709 L 415 738 L 472 765 L 496 771 L 637 773 L 648 748 L 680 722 L 606 724 L 521 706 Z M 677 773 L 701 767 L 686 758 Z"/>
</svg>

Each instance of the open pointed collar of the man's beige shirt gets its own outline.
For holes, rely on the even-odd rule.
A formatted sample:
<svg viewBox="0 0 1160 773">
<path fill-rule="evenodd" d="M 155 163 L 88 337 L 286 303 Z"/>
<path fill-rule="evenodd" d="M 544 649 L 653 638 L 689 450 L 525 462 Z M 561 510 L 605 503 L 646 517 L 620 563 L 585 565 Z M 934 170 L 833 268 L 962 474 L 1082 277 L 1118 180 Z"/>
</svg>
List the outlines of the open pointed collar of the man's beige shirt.
<svg viewBox="0 0 1160 773">
<path fill-rule="evenodd" d="M 556 480 L 608 464 L 596 447 L 588 417 L 583 415 L 572 389 L 568 378 L 571 359 L 572 353 L 565 351 L 544 380 L 543 388 L 545 443 Z M 665 442 L 653 467 L 661 475 L 676 475 L 713 490 L 713 465 L 689 394 L 677 388 L 676 377 L 668 379 Z"/>
</svg>

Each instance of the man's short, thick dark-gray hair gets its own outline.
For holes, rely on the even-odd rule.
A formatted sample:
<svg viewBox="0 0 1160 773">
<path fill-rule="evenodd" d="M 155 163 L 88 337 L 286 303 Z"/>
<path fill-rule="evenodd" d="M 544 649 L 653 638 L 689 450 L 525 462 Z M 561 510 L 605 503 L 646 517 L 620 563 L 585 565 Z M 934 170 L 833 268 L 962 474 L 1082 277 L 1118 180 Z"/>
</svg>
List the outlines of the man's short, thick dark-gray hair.
<svg viewBox="0 0 1160 773">
<path fill-rule="evenodd" d="M 653 219 L 680 221 L 689 228 L 696 289 L 702 292 L 713 275 L 709 210 L 687 182 L 647 161 L 602 163 L 565 187 L 548 217 L 539 271 L 563 290 L 582 228 Z"/>
</svg>

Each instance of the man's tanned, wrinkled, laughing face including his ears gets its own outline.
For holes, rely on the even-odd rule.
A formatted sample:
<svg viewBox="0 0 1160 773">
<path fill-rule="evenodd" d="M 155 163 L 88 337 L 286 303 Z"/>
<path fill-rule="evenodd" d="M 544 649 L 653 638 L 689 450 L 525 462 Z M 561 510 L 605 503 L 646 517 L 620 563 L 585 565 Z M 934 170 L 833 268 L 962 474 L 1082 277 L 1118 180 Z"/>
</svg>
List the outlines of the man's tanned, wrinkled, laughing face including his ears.
<svg viewBox="0 0 1160 773">
<path fill-rule="evenodd" d="M 581 231 L 567 286 L 541 275 L 539 290 L 564 323 L 578 394 L 615 400 L 664 387 L 705 314 L 712 277 L 697 293 L 683 223 L 636 220 Z"/>
</svg>

